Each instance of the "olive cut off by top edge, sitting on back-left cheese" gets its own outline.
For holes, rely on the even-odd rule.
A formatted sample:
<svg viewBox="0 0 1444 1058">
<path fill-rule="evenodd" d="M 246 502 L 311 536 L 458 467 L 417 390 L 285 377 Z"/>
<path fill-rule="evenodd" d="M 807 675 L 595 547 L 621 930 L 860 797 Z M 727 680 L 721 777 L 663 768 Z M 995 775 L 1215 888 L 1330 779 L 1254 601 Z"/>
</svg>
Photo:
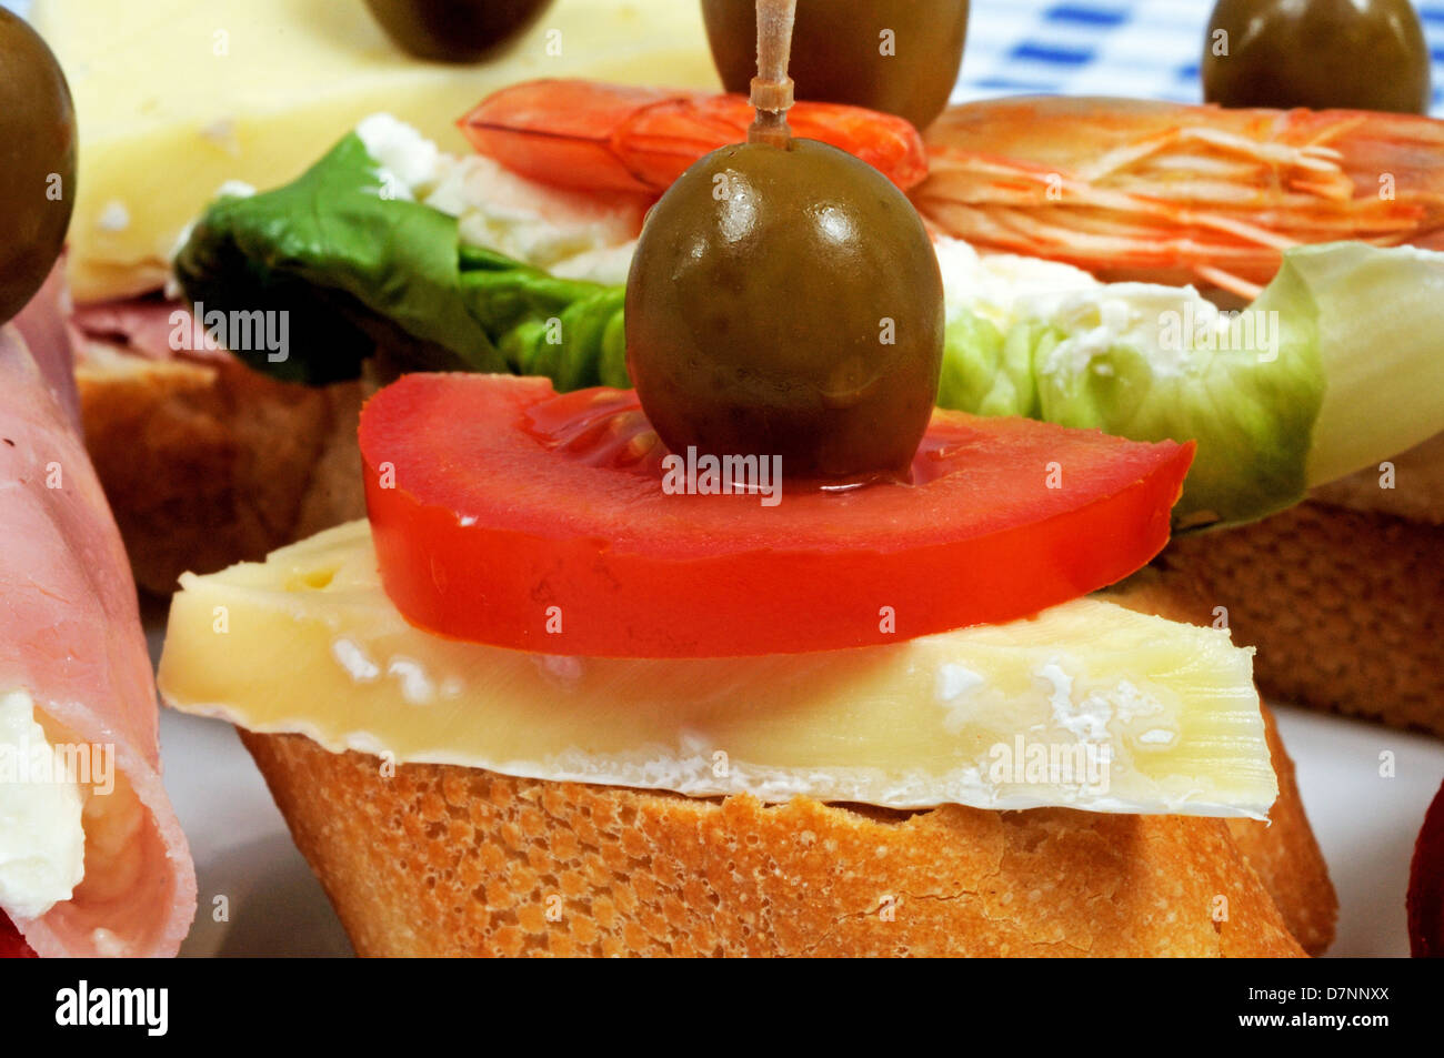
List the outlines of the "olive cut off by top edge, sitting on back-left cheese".
<svg viewBox="0 0 1444 1058">
<path fill-rule="evenodd" d="M 477 62 L 523 33 L 552 0 L 365 0 L 400 48 L 422 59 Z"/>
</svg>

